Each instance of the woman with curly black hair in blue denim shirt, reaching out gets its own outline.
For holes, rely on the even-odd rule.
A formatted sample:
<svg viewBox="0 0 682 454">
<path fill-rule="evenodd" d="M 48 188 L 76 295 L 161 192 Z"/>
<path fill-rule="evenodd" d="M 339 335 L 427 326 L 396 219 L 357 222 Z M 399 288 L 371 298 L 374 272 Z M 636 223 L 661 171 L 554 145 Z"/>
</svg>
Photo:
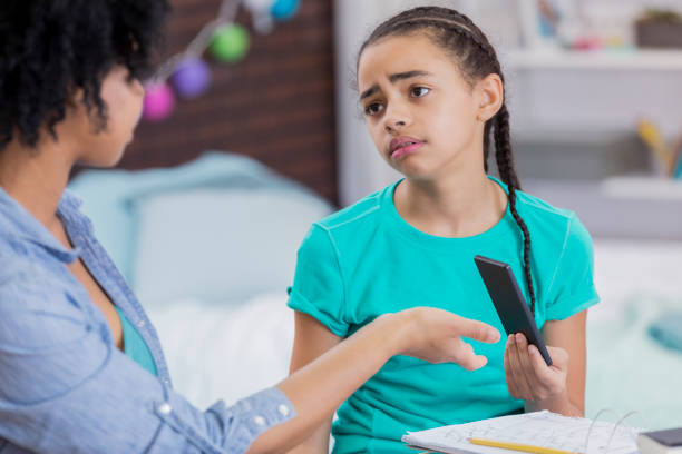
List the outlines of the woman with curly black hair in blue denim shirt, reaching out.
<svg viewBox="0 0 682 454">
<path fill-rule="evenodd" d="M 232 407 L 202 411 L 173 389 L 154 328 L 65 191 L 76 162 L 113 166 L 130 141 L 167 9 L 0 6 L 0 452 L 281 452 L 393 355 L 480 368 L 460 336 L 497 342 L 494 328 L 417 308 Z"/>
</svg>

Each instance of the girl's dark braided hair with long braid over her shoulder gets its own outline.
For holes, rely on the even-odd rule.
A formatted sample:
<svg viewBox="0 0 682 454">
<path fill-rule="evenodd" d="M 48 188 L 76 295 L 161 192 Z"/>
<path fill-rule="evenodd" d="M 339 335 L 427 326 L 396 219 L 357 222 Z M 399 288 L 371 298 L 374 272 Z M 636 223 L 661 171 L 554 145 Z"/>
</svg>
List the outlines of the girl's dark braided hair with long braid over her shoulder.
<svg viewBox="0 0 682 454">
<path fill-rule="evenodd" d="M 465 14 L 448 8 L 419 7 L 403 11 L 382 22 L 364 41 L 358 55 L 358 61 L 364 49 L 382 38 L 406 36 L 422 31 L 439 48 L 450 55 L 469 86 L 490 73 L 504 75 L 497 55 L 483 31 Z M 530 234 L 526 223 L 516 209 L 516 191 L 520 184 L 514 167 L 514 155 L 509 137 L 509 111 L 503 102 L 497 114 L 484 126 L 484 169 L 488 171 L 488 155 L 490 152 L 490 132 L 495 140 L 495 160 L 499 177 L 509 191 L 509 209 L 518 225 L 524 239 L 524 272 L 530 294 L 530 310 L 535 314 L 535 290 L 530 274 Z"/>
</svg>

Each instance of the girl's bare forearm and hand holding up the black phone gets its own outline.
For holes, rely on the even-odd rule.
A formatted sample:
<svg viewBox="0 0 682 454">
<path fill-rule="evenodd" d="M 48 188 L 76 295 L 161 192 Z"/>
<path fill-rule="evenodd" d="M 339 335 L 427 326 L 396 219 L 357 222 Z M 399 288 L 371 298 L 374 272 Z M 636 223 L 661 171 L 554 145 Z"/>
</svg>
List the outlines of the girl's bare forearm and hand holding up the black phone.
<svg viewBox="0 0 682 454">
<path fill-rule="evenodd" d="M 505 374 L 509 393 L 525 401 L 527 412 L 548 409 L 567 416 L 585 413 L 585 323 L 587 309 L 564 320 L 551 320 L 543 337 L 552 357 L 547 366 L 523 334 L 509 336 Z"/>
</svg>

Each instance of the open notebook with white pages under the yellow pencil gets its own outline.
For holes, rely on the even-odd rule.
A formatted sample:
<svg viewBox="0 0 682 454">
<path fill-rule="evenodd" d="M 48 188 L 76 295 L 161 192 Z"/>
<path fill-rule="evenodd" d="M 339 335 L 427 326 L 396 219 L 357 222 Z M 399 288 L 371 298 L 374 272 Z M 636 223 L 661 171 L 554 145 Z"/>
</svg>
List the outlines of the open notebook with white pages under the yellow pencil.
<svg viewBox="0 0 682 454">
<path fill-rule="evenodd" d="M 458 454 L 518 454 L 517 451 L 474 445 L 469 438 L 527 444 L 574 453 L 631 454 L 637 452 L 636 440 L 640 432 L 642 431 L 623 425 L 616 427 L 612 423 L 593 423 L 587 418 L 567 417 L 543 411 L 408 432 L 402 436 L 402 442 L 415 447 Z"/>
</svg>

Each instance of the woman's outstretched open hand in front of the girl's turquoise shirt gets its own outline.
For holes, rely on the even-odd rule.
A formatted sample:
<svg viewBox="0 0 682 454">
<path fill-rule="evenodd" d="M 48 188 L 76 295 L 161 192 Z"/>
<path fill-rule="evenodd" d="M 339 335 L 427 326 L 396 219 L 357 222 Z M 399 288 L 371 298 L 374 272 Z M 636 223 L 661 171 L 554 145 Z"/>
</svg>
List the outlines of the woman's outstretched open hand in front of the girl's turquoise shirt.
<svg viewBox="0 0 682 454">
<path fill-rule="evenodd" d="M 429 363 L 452 362 L 468 371 L 485 366 L 488 359 L 477 355 L 461 337 L 488 344 L 498 342 L 500 337 L 490 325 L 432 307 L 415 307 L 389 316 L 397 317 L 402 325 L 399 355 Z"/>
</svg>

